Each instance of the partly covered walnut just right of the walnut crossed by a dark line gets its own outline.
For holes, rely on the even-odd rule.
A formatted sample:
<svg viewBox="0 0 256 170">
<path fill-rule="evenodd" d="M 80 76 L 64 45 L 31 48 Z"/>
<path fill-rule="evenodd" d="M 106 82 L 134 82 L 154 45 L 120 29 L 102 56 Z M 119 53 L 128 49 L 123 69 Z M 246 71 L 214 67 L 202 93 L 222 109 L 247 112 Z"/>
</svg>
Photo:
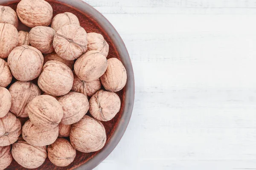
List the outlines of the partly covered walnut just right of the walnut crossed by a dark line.
<svg viewBox="0 0 256 170">
<path fill-rule="evenodd" d="M 108 56 L 109 45 L 102 34 L 96 32 L 87 33 L 87 48 L 88 50 L 96 50 L 101 52 L 105 57 Z"/>
</svg>

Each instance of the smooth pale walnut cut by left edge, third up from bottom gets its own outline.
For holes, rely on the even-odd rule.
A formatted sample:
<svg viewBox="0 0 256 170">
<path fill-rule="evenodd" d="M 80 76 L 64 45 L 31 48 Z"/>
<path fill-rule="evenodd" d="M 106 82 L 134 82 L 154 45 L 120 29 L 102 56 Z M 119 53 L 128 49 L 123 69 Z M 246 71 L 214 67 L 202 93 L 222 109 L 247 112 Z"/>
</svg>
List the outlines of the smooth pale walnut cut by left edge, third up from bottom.
<svg viewBox="0 0 256 170">
<path fill-rule="evenodd" d="M 10 92 L 0 87 L 0 118 L 6 116 L 12 105 L 12 96 Z"/>
</svg>

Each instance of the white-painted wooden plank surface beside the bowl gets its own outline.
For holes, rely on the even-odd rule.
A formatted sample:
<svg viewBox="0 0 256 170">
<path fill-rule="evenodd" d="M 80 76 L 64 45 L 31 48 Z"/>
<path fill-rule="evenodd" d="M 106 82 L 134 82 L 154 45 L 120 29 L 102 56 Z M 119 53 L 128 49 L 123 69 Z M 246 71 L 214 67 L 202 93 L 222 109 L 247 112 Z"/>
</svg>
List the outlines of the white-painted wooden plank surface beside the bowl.
<svg viewBox="0 0 256 170">
<path fill-rule="evenodd" d="M 95 170 L 256 170 L 256 0 L 85 0 L 121 35 L 136 94 Z"/>
</svg>

